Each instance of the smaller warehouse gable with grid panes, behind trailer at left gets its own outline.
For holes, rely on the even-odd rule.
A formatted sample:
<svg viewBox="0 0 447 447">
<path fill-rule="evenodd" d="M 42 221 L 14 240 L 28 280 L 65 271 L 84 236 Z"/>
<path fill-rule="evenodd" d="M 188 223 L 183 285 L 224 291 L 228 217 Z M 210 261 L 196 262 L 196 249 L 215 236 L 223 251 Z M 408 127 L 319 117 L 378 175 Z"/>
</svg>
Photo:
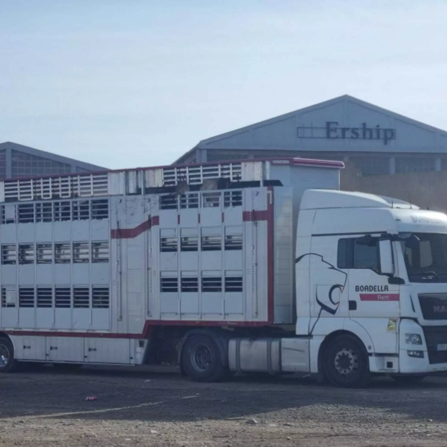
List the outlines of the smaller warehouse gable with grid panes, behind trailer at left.
<svg viewBox="0 0 447 447">
<path fill-rule="evenodd" d="M 9 141 L 0 143 L 0 180 L 103 170 L 100 166 Z"/>
</svg>

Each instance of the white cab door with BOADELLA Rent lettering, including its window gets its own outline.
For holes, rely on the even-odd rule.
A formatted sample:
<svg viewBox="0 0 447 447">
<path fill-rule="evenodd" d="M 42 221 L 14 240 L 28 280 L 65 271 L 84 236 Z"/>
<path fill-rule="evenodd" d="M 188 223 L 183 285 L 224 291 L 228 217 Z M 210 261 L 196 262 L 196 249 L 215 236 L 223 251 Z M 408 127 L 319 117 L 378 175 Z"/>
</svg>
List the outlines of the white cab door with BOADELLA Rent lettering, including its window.
<svg viewBox="0 0 447 447">
<path fill-rule="evenodd" d="M 391 243 L 385 242 L 391 250 Z M 375 352 L 394 353 L 400 315 L 399 285 L 390 284 L 390 276 L 381 271 L 379 238 L 371 237 L 365 243 L 363 237 L 348 236 L 338 244 L 339 266 L 348 271 L 350 320 L 367 330 Z"/>
</svg>

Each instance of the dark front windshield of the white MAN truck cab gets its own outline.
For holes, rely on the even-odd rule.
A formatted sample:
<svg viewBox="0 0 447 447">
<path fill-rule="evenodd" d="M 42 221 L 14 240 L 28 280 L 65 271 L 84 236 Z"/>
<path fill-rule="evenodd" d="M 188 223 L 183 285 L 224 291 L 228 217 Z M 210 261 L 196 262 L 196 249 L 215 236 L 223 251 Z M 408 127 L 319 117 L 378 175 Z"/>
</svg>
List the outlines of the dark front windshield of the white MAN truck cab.
<svg viewBox="0 0 447 447">
<path fill-rule="evenodd" d="M 411 283 L 447 283 L 447 234 L 405 233 L 402 251 Z M 416 236 L 416 237 L 414 237 Z"/>
</svg>

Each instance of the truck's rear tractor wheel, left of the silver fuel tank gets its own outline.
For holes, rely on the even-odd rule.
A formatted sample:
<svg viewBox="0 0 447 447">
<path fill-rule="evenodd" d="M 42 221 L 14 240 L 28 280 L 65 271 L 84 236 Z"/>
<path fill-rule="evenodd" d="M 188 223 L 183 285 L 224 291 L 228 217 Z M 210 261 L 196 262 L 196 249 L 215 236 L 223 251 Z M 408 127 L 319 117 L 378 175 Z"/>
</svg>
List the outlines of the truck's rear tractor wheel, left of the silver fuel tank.
<svg viewBox="0 0 447 447">
<path fill-rule="evenodd" d="M 195 382 L 217 382 L 226 369 L 219 347 L 209 335 L 191 335 L 181 353 L 181 363 L 186 375 Z"/>
</svg>

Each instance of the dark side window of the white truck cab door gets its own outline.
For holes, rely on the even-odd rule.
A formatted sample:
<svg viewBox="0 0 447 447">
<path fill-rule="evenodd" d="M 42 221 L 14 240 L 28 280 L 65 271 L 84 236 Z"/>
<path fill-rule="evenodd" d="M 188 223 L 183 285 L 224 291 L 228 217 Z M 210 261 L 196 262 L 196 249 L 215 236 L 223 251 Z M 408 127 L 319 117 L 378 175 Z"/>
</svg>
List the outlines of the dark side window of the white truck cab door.
<svg viewBox="0 0 447 447">
<path fill-rule="evenodd" d="M 370 269 L 380 272 L 379 244 L 358 244 L 358 238 L 338 240 L 337 267 L 339 269 Z"/>
</svg>

